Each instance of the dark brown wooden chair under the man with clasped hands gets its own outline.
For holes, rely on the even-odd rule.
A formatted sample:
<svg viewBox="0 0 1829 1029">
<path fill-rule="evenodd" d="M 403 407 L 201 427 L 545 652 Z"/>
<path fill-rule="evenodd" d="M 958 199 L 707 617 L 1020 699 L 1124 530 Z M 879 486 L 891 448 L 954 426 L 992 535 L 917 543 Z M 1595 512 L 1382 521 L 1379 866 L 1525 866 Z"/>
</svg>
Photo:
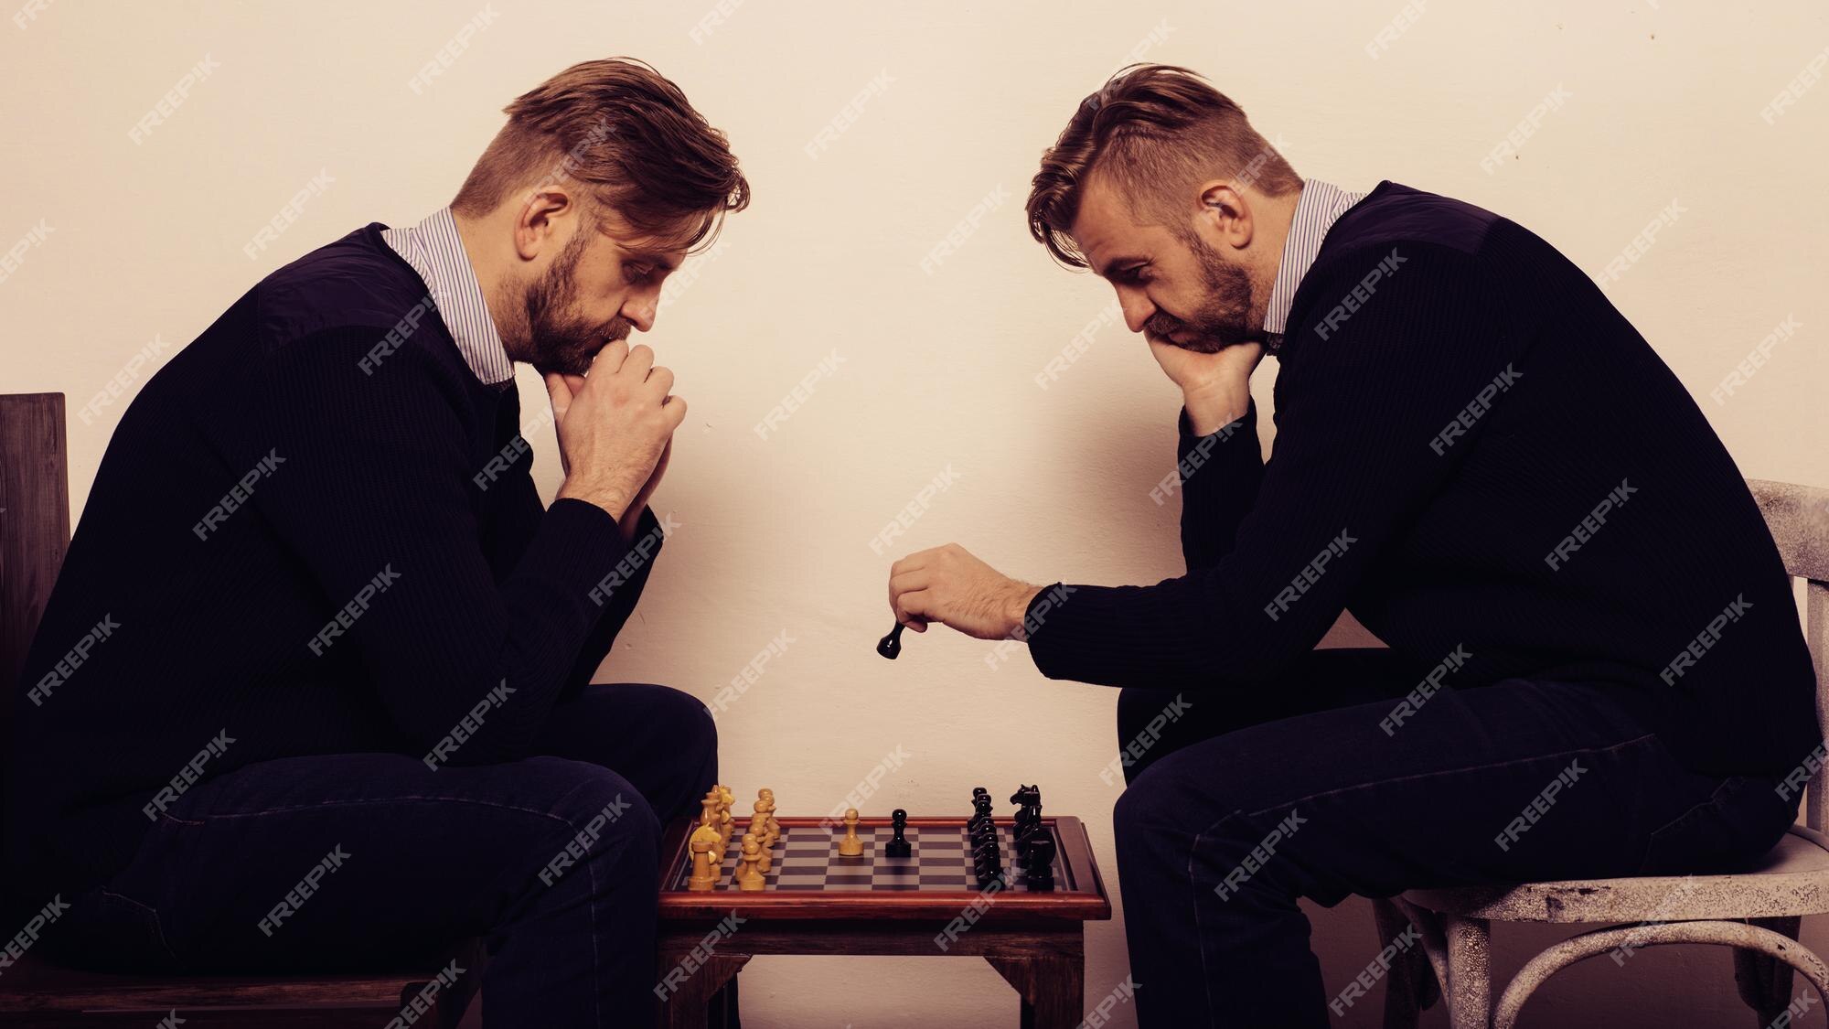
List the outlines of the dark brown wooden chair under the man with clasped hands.
<svg viewBox="0 0 1829 1029">
<path fill-rule="evenodd" d="M 70 546 L 64 394 L 0 395 L 0 747 L 26 648 Z M 4 756 L 4 754 L 0 754 Z M 5 883 L 0 883 L 4 888 Z M 0 926 L 13 937 L 18 926 Z M 437 991 L 428 1029 L 452 1029 L 481 980 L 481 941 L 454 952 L 468 974 Z M 441 965 L 443 967 L 443 965 Z M 441 969 L 397 974 L 135 976 L 53 965 L 29 950 L 0 976 L 0 1025 L 380 1025 Z"/>
</svg>

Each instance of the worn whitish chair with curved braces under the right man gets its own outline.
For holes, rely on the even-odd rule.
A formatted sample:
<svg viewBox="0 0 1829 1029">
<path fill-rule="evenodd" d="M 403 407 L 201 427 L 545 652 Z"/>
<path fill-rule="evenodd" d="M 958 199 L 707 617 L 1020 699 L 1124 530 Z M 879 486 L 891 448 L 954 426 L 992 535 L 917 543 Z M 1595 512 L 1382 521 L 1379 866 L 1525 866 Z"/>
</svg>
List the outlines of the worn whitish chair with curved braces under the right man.
<svg viewBox="0 0 1829 1029">
<path fill-rule="evenodd" d="M 1829 489 L 1747 480 L 1778 542 L 1785 571 L 1805 580 L 1805 635 L 1816 665 L 1816 721 L 1829 723 Z M 1511 1029 L 1531 991 L 1558 970 L 1615 948 L 1719 943 L 1734 948 L 1739 996 L 1772 1025 L 1791 1005 L 1792 970 L 1829 996 L 1829 967 L 1798 943 L 1803 915 L 1829 914 L 1829 767 L 1809 780 L 1809 826 L 1791 833 L 1750 870 L 1734 875 L 1657 875 L 1410 890 L 1374 901 L 1390 945 L 1416 925 L 1423 947 L 1399 948 L 1385 992 L 1385 1027 L 1414 1029 L 1417 1014 L 1447 996 L 1452 1029 Z M 1492 1003 L 1494 921 L 1611 923 L 1549 947 L 1518 970 Z"/>
</svg>

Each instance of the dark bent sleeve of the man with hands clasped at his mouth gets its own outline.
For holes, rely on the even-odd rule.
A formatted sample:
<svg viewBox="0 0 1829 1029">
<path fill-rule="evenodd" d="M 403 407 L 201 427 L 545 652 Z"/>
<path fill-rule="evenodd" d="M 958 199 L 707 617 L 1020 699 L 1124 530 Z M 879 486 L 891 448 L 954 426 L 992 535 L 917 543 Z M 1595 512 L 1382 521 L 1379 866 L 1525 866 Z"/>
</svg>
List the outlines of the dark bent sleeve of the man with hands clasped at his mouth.
<svg viewBox="0 0 1829 1029">
<path fill-rule="evenodd" d="M 247 385 L 260 397 L 249 450 L 285 461 L 254 502 L 340 610 L 298 648 L 357 665 L 441 762 L 525 756 L 604 615 L 591 590 L 627 546 L 604 509 L 558 500 L 497 584 L 470 489 L 490 441 L 470 439 L 461 386 L 421 350 L 402 346 L 364 375 L 379 337 L 315 333 Z"/>
</svg>

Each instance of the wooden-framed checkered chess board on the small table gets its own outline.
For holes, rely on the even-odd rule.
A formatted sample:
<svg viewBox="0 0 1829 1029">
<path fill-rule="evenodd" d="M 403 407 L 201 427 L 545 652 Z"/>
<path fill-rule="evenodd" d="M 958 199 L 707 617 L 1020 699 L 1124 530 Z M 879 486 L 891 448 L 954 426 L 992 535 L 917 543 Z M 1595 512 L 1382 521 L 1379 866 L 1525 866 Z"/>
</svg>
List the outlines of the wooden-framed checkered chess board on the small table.
<svg viewBox="0 0 1829 1029">
<path fill-rule="evenodd" d="M 1105 883 L 1079 818 L 1043 817 L 1043 826 L 1059 844 L 1054 890 L 1028 888 L 1015 857 L 1015 828 L 1010 818 L 995 820 L 1004 881 L 984 888 L 971 870 L 969 833 L 962 817 L 911 817 L 904 839 L 913 853 L 902 859 L 883 855 L 883 844 L 894 835 L 889 818 L 858 820 L 858 837 L 863 839 L 860 857 L 838 853 L 843 824 L 805 817 L 777 820 L 781 839 L 772 850 L 765 888 L 755 892 L 735 884 L 735 870 L 743 861 L 735 844 L 724 853 L 715 888 L 688 890 L 691 851 L 686 844 L 691 824 L 673 824 L 664 844 L 662 919 L 733 910 L 744 917 L 955 917 L 968 906 L 975 908 L 975 917 L 1110 917 Z"/>
</svg>

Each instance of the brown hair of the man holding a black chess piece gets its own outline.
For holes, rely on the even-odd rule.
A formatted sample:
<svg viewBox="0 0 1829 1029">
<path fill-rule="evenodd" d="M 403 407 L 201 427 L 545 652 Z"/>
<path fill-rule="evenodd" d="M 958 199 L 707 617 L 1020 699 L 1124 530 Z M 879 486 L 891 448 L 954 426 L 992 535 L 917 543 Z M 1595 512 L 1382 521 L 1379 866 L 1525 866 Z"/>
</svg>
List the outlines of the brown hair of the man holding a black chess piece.
<svg viewBox="0 0 1829 1029">
<path fill-rule="evenodd" d="M 1041 157 L 1030 189 L 1030 233 L 1068 267 L 1086 267 L 1068 234 L 1081 190 L 1107 176 L 1132 214 L 1182 234 L 1191 189 L 1211 178 L 1253 185 L 1266 196 L 1302 179 L 1246 119 L 1244 108 L 1172 64 L 1132 64 L 1079 103 L 1061 137 Z"/>
</svg>

